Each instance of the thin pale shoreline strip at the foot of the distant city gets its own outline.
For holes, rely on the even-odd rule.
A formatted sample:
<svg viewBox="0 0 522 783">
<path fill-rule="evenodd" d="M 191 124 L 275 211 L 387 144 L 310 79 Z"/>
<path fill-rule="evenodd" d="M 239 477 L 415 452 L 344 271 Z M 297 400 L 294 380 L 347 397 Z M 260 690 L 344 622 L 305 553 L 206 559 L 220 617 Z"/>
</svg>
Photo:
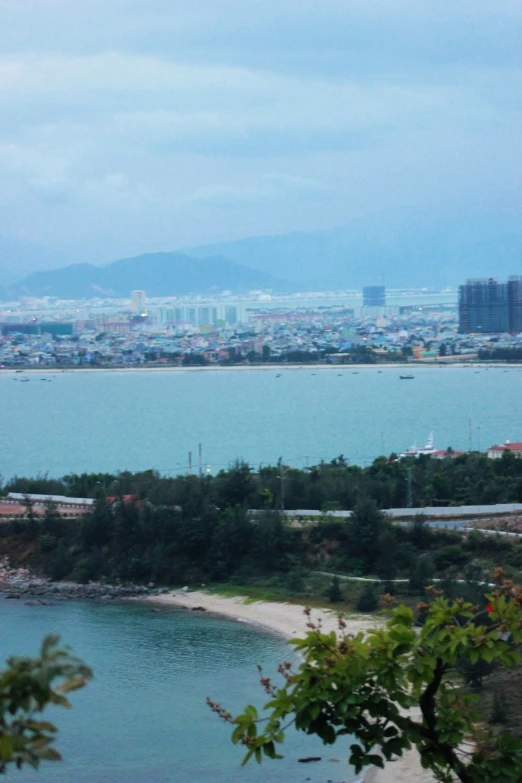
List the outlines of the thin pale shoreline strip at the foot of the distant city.
<svg viewBox="0 0 522 783">
<path fill-rule="evenodd" d="M 0 375 L 16 375 L 16 374 L 51 374 L 62 375 L 64 373 L 135 373 L 135 372 L 154 372 L 154 373 L 166 373 L 166 372 L 254 372 L 254 371 L 278 371 L 280 373 L 286 370 L 313 370 L 317 372 L 336 370 L 344 372 L 357 373 L 360 370 L 423 370 L 423 369 L 448 369 L 453 368 L 457 370 L 464 369 L 481 369 L 481 370 L 494 370 L 494 369 L 522 369 L 521 362 L 473 362 L 473 361 L 426 361 L 426 362 L 379 362 L 377 364 L 236 364 L 236 365 L 222 365 L 211 364 L 205 366 L 146 366 L 146 367 L 0 367 Z"/>
</svg>

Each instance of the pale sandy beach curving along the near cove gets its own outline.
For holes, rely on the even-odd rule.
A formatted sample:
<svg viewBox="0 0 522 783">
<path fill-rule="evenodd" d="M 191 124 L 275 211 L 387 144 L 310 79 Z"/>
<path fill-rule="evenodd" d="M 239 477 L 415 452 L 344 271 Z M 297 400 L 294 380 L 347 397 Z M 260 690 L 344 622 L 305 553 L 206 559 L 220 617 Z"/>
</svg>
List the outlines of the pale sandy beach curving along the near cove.
<svg viewBox="0 0 522 783">
<path fill-rule="evenodd" d="M 246 602 L 244 598 L 225 598 L 204 592 L 183 592 L 173 590 L 163 595 L 139 599 L 164 607 L 180 606 L 192 610 L 203 607 L 207 612 L 234 618 L 273 631 L 286 639 L 303 636 L 308 630 L 308 618 L 303 607 L 296 604 L 266 601 Z M 337 614 L 328 609 L 314 609 L 314 621 L 320 620 L 325 632 L 337 631 Z M 379 618 L 365 615 L 345 617 L 348 633 L 358 633 L 375 627 Z M 386 765 L 384 770 L 371 768 L 366 771 L 364 783 L 435 783 L 433 776 L 423 770 L 419 756 L 414 750 L 397 761 Z"/>
</svg>

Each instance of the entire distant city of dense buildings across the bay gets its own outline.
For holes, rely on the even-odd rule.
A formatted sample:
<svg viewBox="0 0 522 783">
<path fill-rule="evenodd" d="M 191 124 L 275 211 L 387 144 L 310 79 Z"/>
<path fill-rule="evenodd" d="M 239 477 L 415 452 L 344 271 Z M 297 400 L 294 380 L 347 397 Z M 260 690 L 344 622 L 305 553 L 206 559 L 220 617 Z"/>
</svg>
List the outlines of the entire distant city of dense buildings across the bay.
<svg viewBox="0 0 522 783">
<path fill-rule="evenodd" d="M 522 351 L 522 278 L 469 281 L 458 310 L 390 306 L 384 286 L 358 296 L 358 306 L 304 295 L 281 306 L 226 294 L 148 301 L 141 290 L 130 300 L 28 299 L 0 305 L 0 366 L 457 361 Z"/>
</svg>

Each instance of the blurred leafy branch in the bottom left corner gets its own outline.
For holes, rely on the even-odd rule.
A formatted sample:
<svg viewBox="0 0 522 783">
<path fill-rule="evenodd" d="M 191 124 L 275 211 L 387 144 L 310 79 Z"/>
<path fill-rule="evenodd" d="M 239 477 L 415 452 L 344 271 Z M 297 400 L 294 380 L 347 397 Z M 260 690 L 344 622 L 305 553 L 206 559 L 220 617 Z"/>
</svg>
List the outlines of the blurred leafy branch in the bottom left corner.
<svg viewBox="0 0 522 783">
<path fill-rule="evenodd" d="M 0 670 L 0 774 L 61 758 L 53 747 L 56 726 L 39 714 L 51 705 L 70 707 L 66 694 L 83 688 L 92 673 L 58 642 L 47 636 L 37 658 L 12 657 Z"/>
</svg>

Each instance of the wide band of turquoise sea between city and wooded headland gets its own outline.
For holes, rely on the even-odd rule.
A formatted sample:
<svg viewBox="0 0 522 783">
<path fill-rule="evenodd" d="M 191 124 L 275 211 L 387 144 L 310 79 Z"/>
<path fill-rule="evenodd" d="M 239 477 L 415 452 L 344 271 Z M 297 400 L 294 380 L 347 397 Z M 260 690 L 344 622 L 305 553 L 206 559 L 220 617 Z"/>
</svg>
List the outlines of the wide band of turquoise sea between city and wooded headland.
<svg viewBox="0 0 522 783">
<path fill-rule="evenodd" d="M 197 467 L 344 454 L 368 464 L 423 443 L 522 440 L 522 368 L 302 368 L 0 374 L 0 473 Z M 51 378 L 51 383 L 40 377 Z M 17 378 L 18 380 L 14 380 Z"/>
</svg>

